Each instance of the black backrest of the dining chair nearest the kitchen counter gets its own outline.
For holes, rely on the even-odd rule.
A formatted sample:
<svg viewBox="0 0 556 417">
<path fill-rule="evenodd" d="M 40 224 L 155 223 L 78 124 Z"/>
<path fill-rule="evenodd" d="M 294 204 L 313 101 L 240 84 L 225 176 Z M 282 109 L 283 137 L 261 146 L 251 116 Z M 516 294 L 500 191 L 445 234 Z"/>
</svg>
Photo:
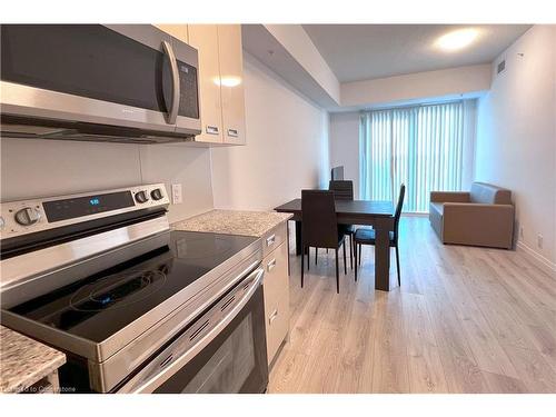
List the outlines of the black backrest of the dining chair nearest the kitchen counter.
<svg viewBox="0 0 556 417">
<path fill-rule="evenodd" d="M 301 190 L 301 239 L 305 247 L 338 247 L 338 219 L 332 191 Z"/>
</svg>

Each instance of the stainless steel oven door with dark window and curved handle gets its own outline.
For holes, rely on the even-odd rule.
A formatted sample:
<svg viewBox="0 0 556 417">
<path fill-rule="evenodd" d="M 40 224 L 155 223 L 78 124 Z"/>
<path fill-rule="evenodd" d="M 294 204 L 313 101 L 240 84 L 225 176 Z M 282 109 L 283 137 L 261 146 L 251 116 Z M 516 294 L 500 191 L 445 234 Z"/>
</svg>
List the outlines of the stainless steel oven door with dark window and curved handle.
<svg viewBox="0 0 556 417">
<path fill-rule="evenodd" d="M 199 316 L 117 393 L 264 393 L 268 365 L 257 269 Z"/>
</svg>

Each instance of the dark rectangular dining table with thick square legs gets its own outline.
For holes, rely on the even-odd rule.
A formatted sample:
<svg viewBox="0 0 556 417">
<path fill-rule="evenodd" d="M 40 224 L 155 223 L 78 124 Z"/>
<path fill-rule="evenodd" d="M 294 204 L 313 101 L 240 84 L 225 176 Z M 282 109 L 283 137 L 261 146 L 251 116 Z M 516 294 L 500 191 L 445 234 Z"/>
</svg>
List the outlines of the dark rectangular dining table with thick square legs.
<svg viewBox="0 0 556 417">
<path fill-rule="evenodd" d="M 375 244 L 375 289 L 390 290 L 390 231 L 394 231 L 394 205 L 383 200 L 336 200 L 339 225 L 373 226 Z M 296 198 L 275 208 L 294 215 L 296 222 L 296 255 L 301 255 L 301 199 Z M 357 267 L 357 266 L 356 266 Z"/>
</svg>

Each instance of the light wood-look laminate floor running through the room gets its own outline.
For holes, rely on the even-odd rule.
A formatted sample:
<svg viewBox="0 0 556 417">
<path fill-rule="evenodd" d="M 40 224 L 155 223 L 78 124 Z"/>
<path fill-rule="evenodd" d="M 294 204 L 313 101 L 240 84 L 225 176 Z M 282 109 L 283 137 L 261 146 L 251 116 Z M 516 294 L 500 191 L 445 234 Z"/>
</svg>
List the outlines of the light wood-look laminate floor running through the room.
<svg viewBox="0 0 556 417">
<path fill-rule="evenodd" d="M 556 393 L 556 280 L 520 252 L 445 246 L 427 218 L 400 221 L 401 287 L 375 291 L 319 251 L 300 288 L 291 245 L 290 337 L 269 393 Z M 290 236 L 294 236 L 290 232 Z M 341 257 L 340 257 L 341 262 Z M 349 265 L 349 259 L 348 259 Z"/>
</svg>

